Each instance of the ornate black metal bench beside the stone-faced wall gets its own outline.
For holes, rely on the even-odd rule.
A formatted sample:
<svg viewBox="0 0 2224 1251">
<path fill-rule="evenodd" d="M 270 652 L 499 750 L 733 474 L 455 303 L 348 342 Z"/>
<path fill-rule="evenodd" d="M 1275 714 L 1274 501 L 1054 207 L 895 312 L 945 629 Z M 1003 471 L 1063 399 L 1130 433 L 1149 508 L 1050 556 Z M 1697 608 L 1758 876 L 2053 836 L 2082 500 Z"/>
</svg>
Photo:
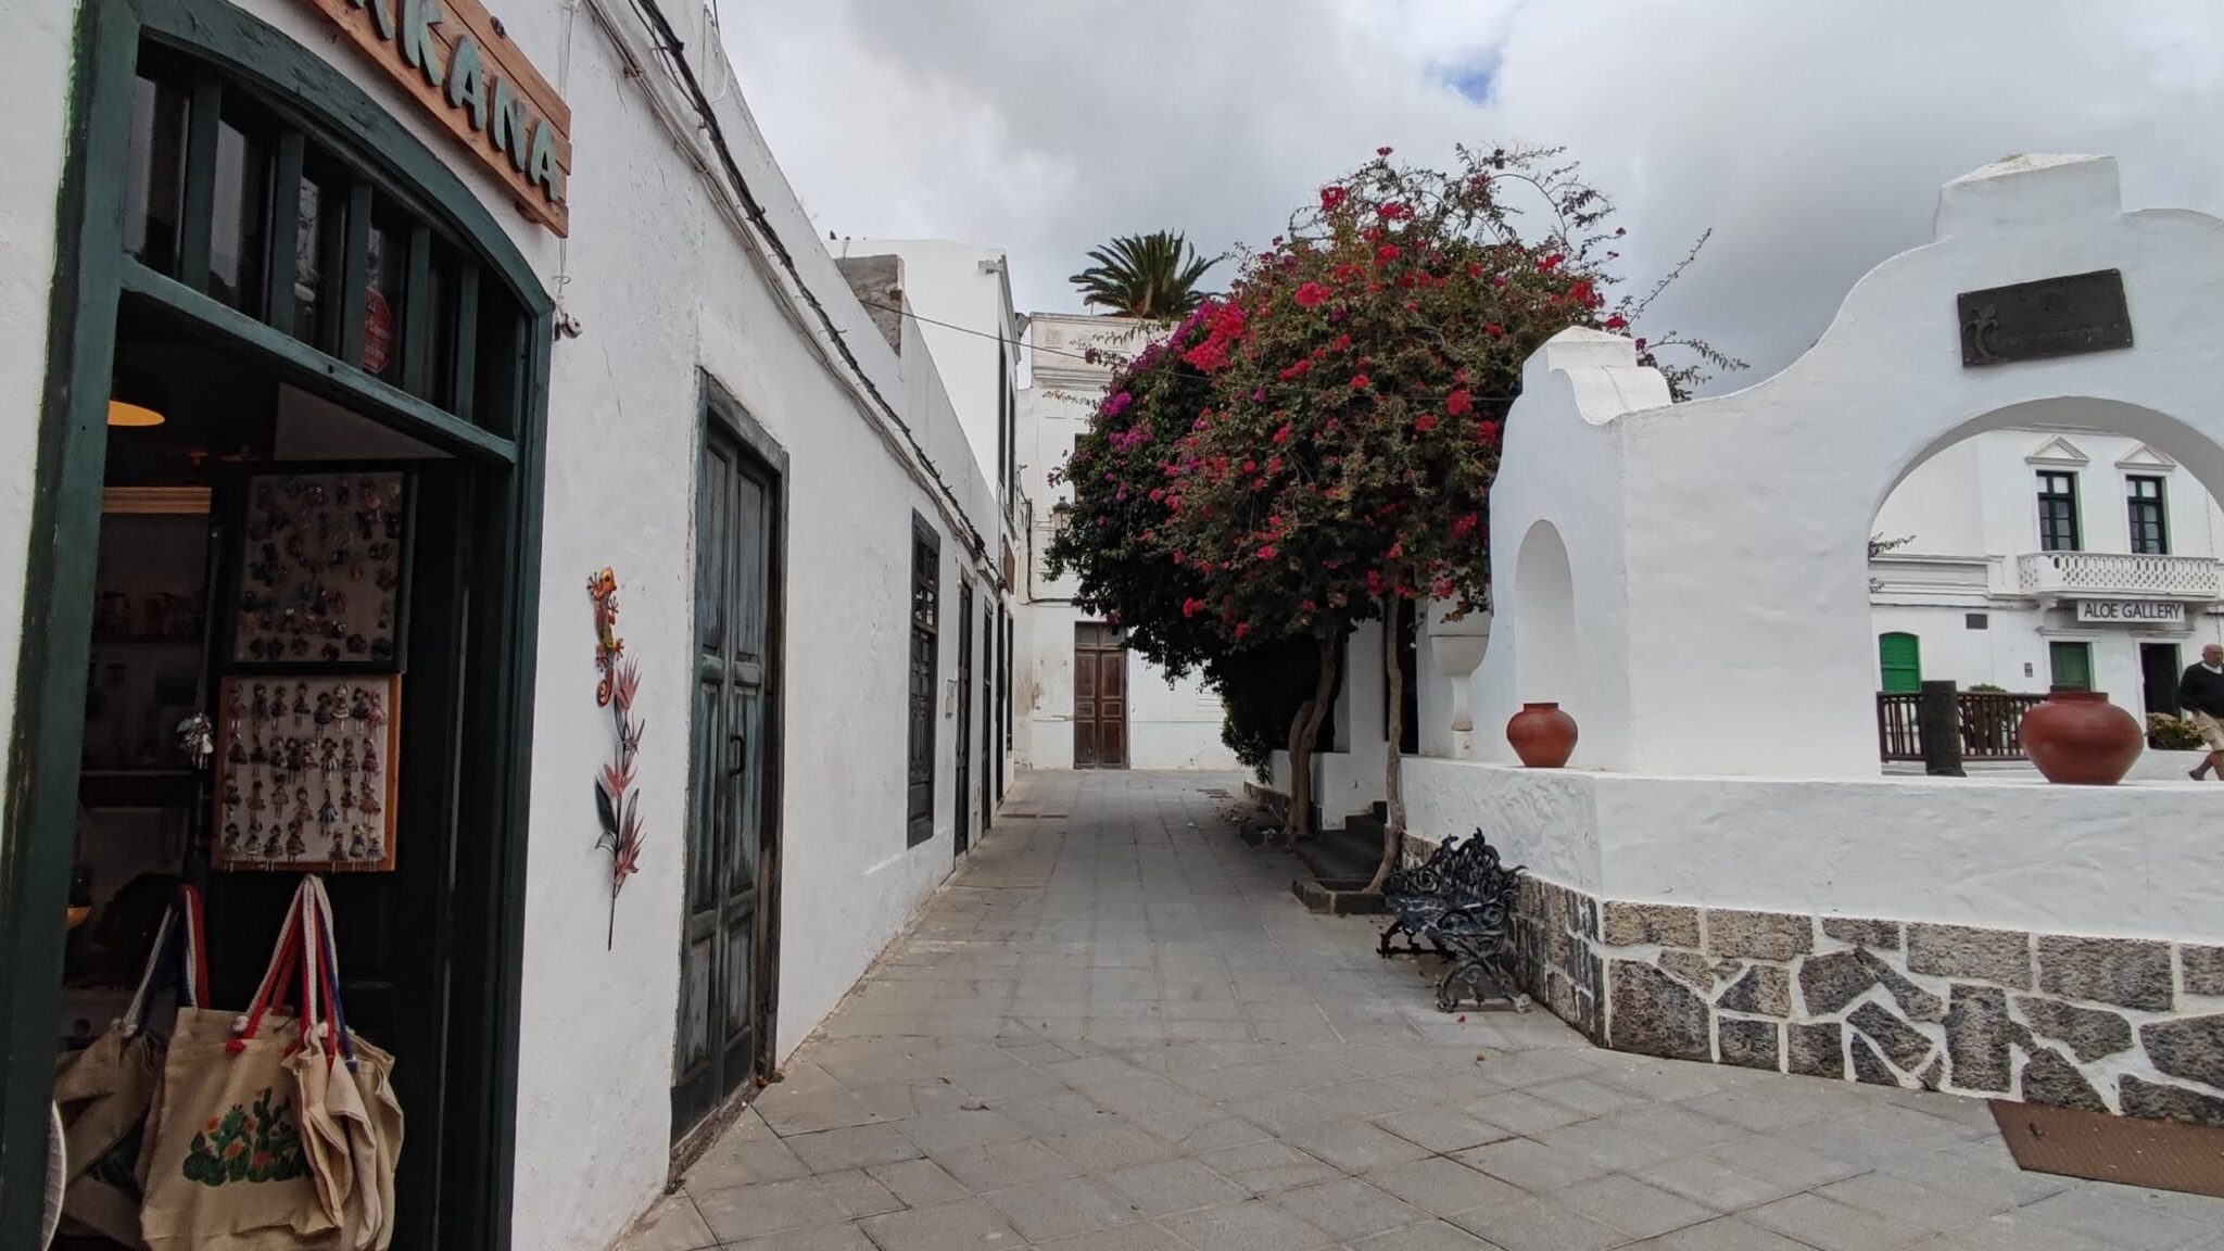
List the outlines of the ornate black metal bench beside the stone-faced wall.
<svg viewBox="0 0 2224 1251">
<path fill-rule="evenodd" d="M 1377 953 L 1383 959 L 1426 955 L 1421 944 L 1428 942 L 1443 955 L 1450 966 L 1437 979 L 1437 1011 L 1452 1013 L 1470 995 L 1477 1004 L 1506 999 L 1526 1011 L 1528 997 L 1503 964 L 1515 942 L 1519 893 L 1521 866 L 1501 866 L 1499 850 L 1483 839 L 1483 830 L 1443 839 L 1428 859 L 1383 879 L 1383 906 L 1392 919 Z M 1397 935 L 1406 935 L 1406 946 L 1390 946 Z M 1486 993 L 1486 982 L 1495 993 Z"/>
</svg>

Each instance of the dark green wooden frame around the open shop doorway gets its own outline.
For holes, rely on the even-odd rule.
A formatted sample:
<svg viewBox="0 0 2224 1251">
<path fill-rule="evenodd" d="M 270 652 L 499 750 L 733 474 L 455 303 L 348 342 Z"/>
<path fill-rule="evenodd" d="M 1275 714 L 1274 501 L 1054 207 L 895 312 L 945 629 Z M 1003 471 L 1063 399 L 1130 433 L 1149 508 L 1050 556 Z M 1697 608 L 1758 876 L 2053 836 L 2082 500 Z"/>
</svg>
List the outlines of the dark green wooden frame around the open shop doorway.
<svg viewBox="0 0 2224 1251">
<path fill-rule="evenodd" d="M 131 87 L 140 42 L 158 42 L 258 89 L 345 151 L 385 189 L 469 240 L 487 276 L 507 285 L 523 316 L 514 356 L 512 425 L 487 432 L 438 414 L 358 367 L 302 361 L 298 343 L 185 283 L 149 280 L 122 249 Z M 516 1146 L 518 984 L 525 935 L 525 817 L 532 761 L 534 661 L 540 588 L 543 436 L 552 301 L 525 256 L 440 156 L 316 53 L 225 0 L 85 0 L 78 9 L 69 100 L 69 160 L 56 194 L 56 269 L 47 307 L 47 378 L 36 441 L 24 619 L 9 726 L 9 788 L 0 806 L 0 1247 L 33 1247 L 44 1191 L 53 1040 L 60 1031 L 62 937 L 85 737 L 107 396 L 122 298 L 205 321 L 211 332 L 276 354 L 309 390 L 387 418 L 471 461 L 487 525 L 471 536 L 483 588 L 474 605 L 471 668 L 485 674 L 480 726 L 458 810 L 458 1019 L 445 1073 L 454 1137 L 443 1162 L 440 1242 L 509 1247 Z M 342 301 L 345 307 L 345 301 Z M 225 309 L 229 312 L 229 309 Z M 496 345 L 485 345 L 496 347 Z M 449 1204 L 454 1195 L 454 1204 Z"/>
</svg>

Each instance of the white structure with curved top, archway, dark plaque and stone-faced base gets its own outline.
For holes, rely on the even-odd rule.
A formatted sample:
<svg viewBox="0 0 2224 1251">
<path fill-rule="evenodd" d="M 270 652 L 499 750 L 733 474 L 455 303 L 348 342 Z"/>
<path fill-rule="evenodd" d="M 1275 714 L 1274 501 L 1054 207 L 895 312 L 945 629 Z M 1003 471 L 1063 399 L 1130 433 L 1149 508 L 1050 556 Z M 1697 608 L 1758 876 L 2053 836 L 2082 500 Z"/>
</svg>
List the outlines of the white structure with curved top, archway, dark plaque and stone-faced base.
<svg viewBox="0 0 2224 1251">
<path fill-rule="evenodd" d="M 1532 995 L 1621 1051 L 2224 1124 L 2224 790 L 1877 761 L 1877 621 L 1930 608 L 1877 605 L 1902 568 L 1982 556 L 2039 639 L 2102 626 L 2077 603 L 2206 605 L 2213 563 L 2175 556 L 2215 552 L 2191 545 L 2224 487 L 2220 289 L 2224 220 L 2124 211 L 2111 158 L 2008 158 L 1948 183 L 1933 243 L 1755 387 L 1670 405 L 1590 329 L 1528 361 L 1490 639 L 1475 663 L 1423 619 L 1403 790 L 1414 835 L 1481 828 L 1528 868 Z M 2075 474 L 2046 494 L 2084 501 L 2088 552 L 2048 552 L 2037 496 L 2013 503 L 2039 472 Z M 2182 545 L 2131 552 L 2115 496 L 2157 476 Z M 1873 561 L 1895 525 L 1948 550 Z M 1523 701 L 1577 719 L 1570 768 L 1515 764 Z"/>
</svg>

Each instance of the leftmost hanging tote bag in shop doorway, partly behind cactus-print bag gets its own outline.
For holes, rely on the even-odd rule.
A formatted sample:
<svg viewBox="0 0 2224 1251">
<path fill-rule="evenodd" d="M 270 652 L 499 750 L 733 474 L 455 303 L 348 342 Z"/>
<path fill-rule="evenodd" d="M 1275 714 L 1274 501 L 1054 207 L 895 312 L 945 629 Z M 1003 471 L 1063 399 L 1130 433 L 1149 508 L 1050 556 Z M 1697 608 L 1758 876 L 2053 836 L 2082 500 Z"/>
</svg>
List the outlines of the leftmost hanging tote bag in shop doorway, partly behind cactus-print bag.
<svg viewBox="0 0 2224 1251">
<path fill-rule="evenodd" d="M 91 1046 L 62 1057 L 53 1102 L 62 1117 L 62 1218 L 71 1231 L 91 1231 L 125 1247 L 140 1247 L 138 1158 L 147 1113 L 162 1075 L 165 1040 L 147 1028 L 149 991 L 160 971 L 178 964 L 178 1006 L 198 1008 L 209 984 L 202 944 L 200 893 L 178 886 L 162 913 L 153 948 L 125 1015 Z"/>
</svg>

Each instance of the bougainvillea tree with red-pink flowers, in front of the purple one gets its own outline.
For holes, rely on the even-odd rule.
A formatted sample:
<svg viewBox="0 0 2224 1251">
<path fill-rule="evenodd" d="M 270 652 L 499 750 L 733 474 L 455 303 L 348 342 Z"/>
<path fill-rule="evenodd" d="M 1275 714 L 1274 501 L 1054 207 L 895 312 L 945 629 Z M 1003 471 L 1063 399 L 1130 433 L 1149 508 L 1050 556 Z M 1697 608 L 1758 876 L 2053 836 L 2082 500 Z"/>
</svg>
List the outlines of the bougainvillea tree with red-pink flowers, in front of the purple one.
<svg viewBox="0 0 2224 1251">
<path fill-rule="evenodd" d="M 1145 539 L 1201 577 L 1185 612 L 1230 641 L 1310 634 L 1328 654 L 1399 601 L 1488 605 L 1490 483 L 1521 363 L 1570 325 L 1628 329 L 1650 298 L 1608 296 L 1624 229 L 1557 156 L 1461 151 L 1430 171 L 1381 149 L 1199 312 L 1170 349 L 1210 398 L 1168 456 L 1168 519 Z M 1690 347 L 1701 363 L 1664 370 L 1672 385 L 1735 365 Z M 1657 365 L 1655 345 L 1639 349 Z M 1383 641 L 1394 743 L 1397 630 Z M 1399 752 L 1383 790 L 1377 886 L 1403 844 Z"/>
</svg>

